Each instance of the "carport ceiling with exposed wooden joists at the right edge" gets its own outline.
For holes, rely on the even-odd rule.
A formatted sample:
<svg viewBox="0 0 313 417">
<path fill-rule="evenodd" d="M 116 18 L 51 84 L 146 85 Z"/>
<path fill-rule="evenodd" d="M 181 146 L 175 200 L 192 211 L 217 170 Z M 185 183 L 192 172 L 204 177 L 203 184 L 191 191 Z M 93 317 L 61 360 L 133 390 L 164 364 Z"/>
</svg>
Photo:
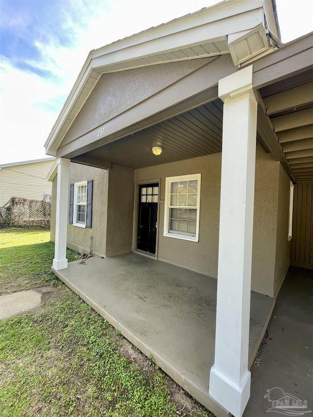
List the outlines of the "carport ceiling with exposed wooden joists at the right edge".
<svg viewBox="0 0 313 417">
<path fill-rule="evenodd" d="M 296 182 L 313 182 L 313 72 L 261 88 L 260 94 Z"/>
</svg>

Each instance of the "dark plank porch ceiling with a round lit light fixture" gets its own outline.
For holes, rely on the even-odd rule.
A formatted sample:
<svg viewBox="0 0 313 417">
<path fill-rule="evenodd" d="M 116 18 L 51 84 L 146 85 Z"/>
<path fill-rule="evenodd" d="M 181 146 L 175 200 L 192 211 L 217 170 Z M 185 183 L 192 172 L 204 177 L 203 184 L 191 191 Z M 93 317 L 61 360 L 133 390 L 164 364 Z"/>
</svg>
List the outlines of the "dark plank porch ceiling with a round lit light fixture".
<svg viewBox="0 0 313 417">
<path fill-rule="evenodd" d="M 86 154 L 131 168 L 174 162 L 222 151 L 223 103 L 207 103 Z M 159 156 L 153 146 L 161 146 Z"/>
</svg>

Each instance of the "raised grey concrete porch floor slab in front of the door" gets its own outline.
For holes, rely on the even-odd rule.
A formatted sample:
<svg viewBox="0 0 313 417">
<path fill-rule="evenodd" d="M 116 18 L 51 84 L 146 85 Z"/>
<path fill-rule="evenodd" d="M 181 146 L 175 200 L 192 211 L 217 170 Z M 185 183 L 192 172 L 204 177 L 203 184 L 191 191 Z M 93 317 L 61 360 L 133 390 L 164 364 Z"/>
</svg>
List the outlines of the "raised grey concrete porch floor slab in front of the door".
<svg viewBox="0 0 313 417">
<path fill-rule="evenodd" d="M 214 364 L 217 280 L 135 253 L 89 258 L 52 271 L 189 394 L 218 416 L 209 395 Z M 249 368 L 274 300 L 252 291 Z"/>
</svg>

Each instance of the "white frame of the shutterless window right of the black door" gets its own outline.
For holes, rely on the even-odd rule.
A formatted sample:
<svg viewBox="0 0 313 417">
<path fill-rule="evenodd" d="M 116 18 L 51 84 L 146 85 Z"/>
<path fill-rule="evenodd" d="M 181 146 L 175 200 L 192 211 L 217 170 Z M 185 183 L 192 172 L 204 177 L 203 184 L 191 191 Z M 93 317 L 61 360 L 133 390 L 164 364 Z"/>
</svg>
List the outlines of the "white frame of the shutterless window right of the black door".
<svg viewBox="0 0 313 417">
<path fill-rule="evenodd" d="M 198 181 L 197 187 L 197 206 L 193 207 L 197 209 L 197 223 L 196 223 L 196 236 L 183 235 L 180 233 L 170 233 L 170 198 L 171 198 L 171 183 L 177 181 Z M 201 195 L 201 174 L 182 175 L 182 176 L 169 176 L 165 178 L 165 204 L 164 204 L 164 233 L 163 236 L 174 239 L 181 239 L 183 241 L 199 241 L 199 224 L 200 224 L 200 195 Z M 191 208 L 187 207 L 186 208 Z"/>
</svg>

